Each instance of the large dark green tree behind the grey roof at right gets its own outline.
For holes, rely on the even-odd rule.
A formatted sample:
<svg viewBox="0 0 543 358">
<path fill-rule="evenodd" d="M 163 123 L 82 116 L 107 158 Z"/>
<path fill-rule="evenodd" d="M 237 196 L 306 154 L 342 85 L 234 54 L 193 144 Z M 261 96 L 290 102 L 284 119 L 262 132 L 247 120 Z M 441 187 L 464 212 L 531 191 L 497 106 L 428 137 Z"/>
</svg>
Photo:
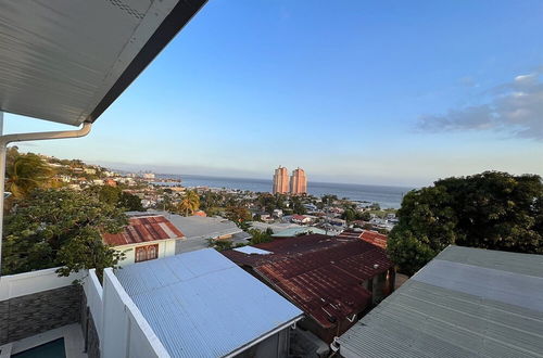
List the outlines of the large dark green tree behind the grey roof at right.
<svg viewBox="0 0 543 358">
<path fill-rule="evenodd" d="M 388 251 L 412 274 L 450 244 L 543 254 L 543 183 L 534 175 L 438 180 L 407 193 Z"/>
</svg>

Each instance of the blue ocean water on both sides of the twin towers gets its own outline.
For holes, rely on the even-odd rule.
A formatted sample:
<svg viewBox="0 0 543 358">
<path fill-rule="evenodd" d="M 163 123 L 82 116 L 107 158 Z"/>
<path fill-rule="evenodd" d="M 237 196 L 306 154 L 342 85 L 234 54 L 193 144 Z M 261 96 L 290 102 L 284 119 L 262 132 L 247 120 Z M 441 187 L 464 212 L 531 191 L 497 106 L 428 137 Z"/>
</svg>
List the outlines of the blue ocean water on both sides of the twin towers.
<svg viewBox="0 0 543 358">
<path fill-rule="evenodd" d="M 157 175 L 157 178 L 181 179 L 182 186 L 210 187 L 250 190 L 253 192 L 272 192 L 273 181 L 267 179 L 220 178 L 195 175 Z M 334 194 L 339 199 L 378 203 L 382 208 L 399 208 L 402 197 L 414 188 L 345 184 L 331 182 L 307 182 L 307 191 L 315 196 Z"/>
</svg>

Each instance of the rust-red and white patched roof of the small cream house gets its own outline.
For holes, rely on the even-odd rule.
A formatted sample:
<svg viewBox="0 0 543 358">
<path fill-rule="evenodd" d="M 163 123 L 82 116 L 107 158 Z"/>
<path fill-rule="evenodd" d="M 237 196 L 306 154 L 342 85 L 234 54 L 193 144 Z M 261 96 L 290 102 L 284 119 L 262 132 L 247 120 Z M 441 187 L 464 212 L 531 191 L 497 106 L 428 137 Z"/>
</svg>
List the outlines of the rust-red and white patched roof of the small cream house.
<svg viewBox="0 0 543 358">
<path fill-rule="evenodd" d="M 161 215 L 129 218 L 129 223 L 119 233 L 102 234 L 103 241 L 112 246 L 184 236 L 185 234 L 179 229 Z"/>
</svg>

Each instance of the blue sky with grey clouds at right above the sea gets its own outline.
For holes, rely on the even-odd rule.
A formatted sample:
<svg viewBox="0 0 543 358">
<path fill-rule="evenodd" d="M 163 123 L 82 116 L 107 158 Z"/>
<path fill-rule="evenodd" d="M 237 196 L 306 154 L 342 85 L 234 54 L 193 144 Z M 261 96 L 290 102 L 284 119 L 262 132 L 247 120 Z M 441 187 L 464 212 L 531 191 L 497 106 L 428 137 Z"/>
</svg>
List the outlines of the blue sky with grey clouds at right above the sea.
<svg viewBox="0 0 543 358">
<path fill-rule="evenodd" d="M 543 2 L 212 0 L 84 139 L 127 169 L 422 186 L 543 175 Z M 62 128 L 7 115 L 7 132 Z"/>
</svg>

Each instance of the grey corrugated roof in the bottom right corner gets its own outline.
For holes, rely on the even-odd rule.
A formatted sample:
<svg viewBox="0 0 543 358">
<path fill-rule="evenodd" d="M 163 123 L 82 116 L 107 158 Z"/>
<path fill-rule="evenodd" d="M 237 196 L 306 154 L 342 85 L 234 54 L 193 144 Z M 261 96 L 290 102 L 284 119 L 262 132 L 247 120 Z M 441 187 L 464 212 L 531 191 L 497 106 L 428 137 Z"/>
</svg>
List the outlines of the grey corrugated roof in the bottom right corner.
<svg viewBox="0 0 543 358">
<path fill-rule="evenodd" d="M 541 259 L 450 246 L 345 332 L 341 355 L 543 357 L 543 279 L 519 273 Z"/>
</svg>

